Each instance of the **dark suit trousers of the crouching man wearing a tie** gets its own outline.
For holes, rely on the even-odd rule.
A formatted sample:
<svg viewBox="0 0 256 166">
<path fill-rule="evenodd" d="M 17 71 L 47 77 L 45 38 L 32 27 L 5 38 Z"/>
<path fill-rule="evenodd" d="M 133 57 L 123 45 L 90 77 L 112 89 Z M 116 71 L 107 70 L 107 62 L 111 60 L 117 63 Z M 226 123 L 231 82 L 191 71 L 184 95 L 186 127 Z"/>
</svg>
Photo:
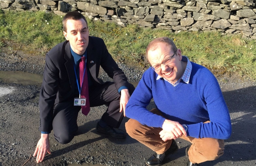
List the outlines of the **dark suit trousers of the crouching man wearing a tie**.
<svg viewBox="0 0 256 166">
<path fill-rule="evenodd" d="M 134 91 L 134 86 L 129 84 L 130 95 Z M 101 120 L 106 124 L 119 128 L 123 120 L 123 112 L 120 110 L 120 94 L 114 82 L 107 82 L 103 85 L 92 86 L 89 89 L 90 107 L 100 105 L 108 106 Z M 54 106 L 54 118 L 52 122 L 55 139 L 61 144 L 69 143 L 78 130 L 77 116 L 81 106 L 74 106 L 74 101 L 58 103 Z"/>
</svg>

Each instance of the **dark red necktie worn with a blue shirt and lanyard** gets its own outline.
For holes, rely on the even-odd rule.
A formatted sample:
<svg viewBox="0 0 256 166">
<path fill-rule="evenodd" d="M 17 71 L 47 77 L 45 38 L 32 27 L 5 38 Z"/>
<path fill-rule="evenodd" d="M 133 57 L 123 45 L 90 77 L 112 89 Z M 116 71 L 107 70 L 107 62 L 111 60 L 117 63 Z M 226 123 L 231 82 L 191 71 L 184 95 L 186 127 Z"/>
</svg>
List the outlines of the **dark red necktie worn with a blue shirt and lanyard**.
<svg viewBox="0 0 256 166">
<path fill-rule="evenodd" d="M 82 106 L 82 114 L 87 115 L 90 111 L 90 102 L 89 102 L 88 77 L 87 77 L 87 71 L 85 70 L 85 57 L 81 57 L 81 61 L 79 64 L 79 73 L 80 73 L 79 74 L 80 85 L 82 85 L 81 97 L 86 98 L 85 106 Z M 83 82 L 83 77 L 84 77 L 84 82 Z"/>
</svg>

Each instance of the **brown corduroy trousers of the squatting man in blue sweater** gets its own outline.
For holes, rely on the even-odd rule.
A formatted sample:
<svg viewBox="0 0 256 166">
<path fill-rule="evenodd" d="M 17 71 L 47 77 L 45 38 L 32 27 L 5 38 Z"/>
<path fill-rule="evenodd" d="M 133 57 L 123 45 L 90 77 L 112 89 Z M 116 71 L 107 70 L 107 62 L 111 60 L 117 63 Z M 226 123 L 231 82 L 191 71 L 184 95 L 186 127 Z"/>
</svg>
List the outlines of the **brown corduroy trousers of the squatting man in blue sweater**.
<svg viewBox="0 0 256 166">
<path fill-rule="evenodd" d="M 151 112 L 160 114 L 157 109 Z M 209 121 L 205 122 L 209 123 Z M 138 140 L 157 154 L 162 154 L 171 146 L 172 140 L 164 142 L 160 138 L 159 132 L 162 128 L 149 127 L 142 125 L 134 119 L 130 119 L 125 124 L 126 132 L 130 137 Z M 215 138 L 194 138 L 191 136 L 181 136 L 181 139 L 192 143 L 188 150 L 189 160 L 192 163 L 202 163 L 204 161 L 216 160 L 224 153 L 224 140 Z"/>
</svg>

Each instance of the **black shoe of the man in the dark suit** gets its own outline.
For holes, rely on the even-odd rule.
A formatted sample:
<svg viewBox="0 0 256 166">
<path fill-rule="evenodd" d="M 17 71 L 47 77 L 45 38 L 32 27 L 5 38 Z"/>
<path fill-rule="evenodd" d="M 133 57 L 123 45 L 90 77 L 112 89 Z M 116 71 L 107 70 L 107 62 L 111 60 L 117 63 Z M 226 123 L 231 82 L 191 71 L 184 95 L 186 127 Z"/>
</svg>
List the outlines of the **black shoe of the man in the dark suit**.
<svg viewBox="0 0 256 166">
<path fill-rule="evenodd" d="M 107 127 L 103 128 L 99 125 L 99 123 L 97 123 L 96 130 L 97 130 L 97 132 L 107 134 L 114 138 L 125 138 L 126 137 L 126 133 L 124 131 L 120 130 L 119 128 L 113 128 L 109 125 Z"/>
</svg>

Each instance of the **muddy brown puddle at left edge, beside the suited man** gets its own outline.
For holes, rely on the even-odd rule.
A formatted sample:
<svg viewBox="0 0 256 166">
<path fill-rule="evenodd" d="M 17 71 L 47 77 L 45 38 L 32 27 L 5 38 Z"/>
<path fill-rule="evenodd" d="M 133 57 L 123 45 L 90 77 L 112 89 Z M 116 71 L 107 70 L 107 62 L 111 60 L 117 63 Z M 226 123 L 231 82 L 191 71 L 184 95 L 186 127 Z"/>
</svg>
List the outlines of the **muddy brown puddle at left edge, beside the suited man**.
<svg viewBox="0 0 256 166">
<path fill-rule="evenodd" d="M 41 85 L 43 76 L 22 71 L 0 71 L 0 79 L 6 83 Z"/>
</svg>

